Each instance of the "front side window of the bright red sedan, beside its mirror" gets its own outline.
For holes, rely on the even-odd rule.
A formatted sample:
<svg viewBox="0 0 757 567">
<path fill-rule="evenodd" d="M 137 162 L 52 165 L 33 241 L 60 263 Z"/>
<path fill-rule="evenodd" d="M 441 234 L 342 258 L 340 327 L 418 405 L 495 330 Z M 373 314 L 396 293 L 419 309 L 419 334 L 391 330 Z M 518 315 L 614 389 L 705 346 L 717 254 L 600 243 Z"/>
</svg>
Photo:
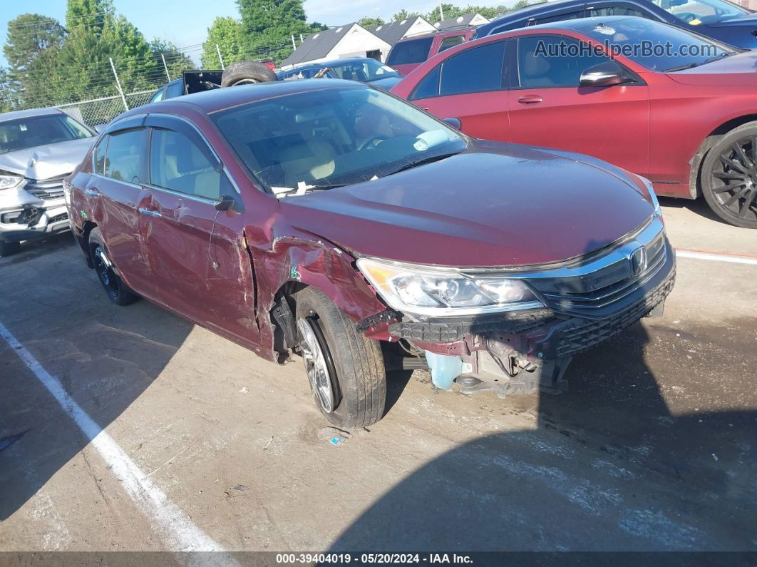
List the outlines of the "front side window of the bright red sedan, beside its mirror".
<svg viewBox="0 0 757 567">
<path fill-rule="evenodd" d="M 518 40 L 518 78 L 522 89 L 578 87 L 581 73 L 611 61 L 589 45 L 560 36 L 530 36 Z"/>
</svg>

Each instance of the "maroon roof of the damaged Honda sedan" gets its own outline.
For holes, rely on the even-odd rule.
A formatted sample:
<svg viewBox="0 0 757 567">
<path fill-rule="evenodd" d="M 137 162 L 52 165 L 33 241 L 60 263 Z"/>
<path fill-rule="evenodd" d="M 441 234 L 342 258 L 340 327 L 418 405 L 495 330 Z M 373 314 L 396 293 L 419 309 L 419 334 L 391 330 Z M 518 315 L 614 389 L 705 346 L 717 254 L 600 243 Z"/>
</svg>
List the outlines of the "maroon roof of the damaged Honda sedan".
<svg viewBox="0 0 757 567">
<path fill-rule="evenodd" d="M 307 81 L 271 81 L 269 83 L 257 83 L 256 85 L 241 85 L 226 87 L 225 89 L 213 89 L 204 92 L 195 92 L 192 95 L 183 95 L 176 98 L 170 98 L 168 101 L 152 102 L 134 109 L 139 112 L 124 113 L 124 116 L 131 114 L 145 114 L 151 111 L 165 113 L 166 104 L 182 105 L 189 108 L 198 108 L 206 114 L 220 111 L 225 108 L 266 100 L 266 98 L 276 98 L 284 95 L 297 95 L 301 92 L 322 91 L 324 89 L 338 88 L 370 89 L 371 87 L 356 83 L 354 81 L 345 81 L 342 79 L 308 79 Z M 160 110 L 158 110 L 160 109 Z"/>
</svg>

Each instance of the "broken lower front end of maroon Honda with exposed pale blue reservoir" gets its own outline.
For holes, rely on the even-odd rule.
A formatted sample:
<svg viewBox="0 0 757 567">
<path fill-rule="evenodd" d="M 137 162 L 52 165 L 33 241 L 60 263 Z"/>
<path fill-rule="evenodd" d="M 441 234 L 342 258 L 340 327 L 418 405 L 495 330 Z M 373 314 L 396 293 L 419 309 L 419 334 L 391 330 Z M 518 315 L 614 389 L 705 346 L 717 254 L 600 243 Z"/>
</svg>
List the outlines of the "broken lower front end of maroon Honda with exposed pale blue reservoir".
<svg viewBox="0 0 757 567">
<path fill-rule="evenodd" d="M 463 392 L 513 393 L 564 391 L 565 370 L 573 355 L 595 347 L 631 326 L 643 316 L 658 315 L 673 288 L 675 259 L 668 258 L 634 297 L 601 319 L 587 319 L 553 310 L 536 310 L 498 319 L 466 322 L 394 322 L 396 339 L 419 350 L 435 386 Z"/>
</svg>

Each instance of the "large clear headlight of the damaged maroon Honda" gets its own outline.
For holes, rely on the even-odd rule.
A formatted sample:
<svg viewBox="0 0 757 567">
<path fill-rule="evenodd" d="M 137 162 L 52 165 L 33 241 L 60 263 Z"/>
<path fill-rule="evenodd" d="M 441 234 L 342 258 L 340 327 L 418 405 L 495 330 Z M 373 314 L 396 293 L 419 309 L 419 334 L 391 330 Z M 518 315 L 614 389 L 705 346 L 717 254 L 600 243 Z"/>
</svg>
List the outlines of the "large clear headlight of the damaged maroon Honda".
<svg viewBox="0 0 757 567">
<path fill-rule="evenodd" d="M 403 313 L 443 317 L 544 307 L 519 279 L 360 258 L 357 267 L 387 302 Z"/>
</svg>

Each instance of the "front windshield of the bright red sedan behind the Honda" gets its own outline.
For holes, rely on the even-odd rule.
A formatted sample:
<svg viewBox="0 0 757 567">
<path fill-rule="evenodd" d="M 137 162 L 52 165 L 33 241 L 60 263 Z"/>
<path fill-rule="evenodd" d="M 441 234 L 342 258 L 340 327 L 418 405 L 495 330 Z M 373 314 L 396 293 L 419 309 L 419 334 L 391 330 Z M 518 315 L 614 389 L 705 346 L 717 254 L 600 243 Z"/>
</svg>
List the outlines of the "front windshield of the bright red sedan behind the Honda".
<svg viewBox="0 0 757 567">
<path fill-rule="evenodd" d="M 641 17 L 593 24 L 581 31 L 605 45 L 612 55 L 628 57 L 656 71 L 697 67 L 736 52 L 706 37 Z"/>
</svg>

